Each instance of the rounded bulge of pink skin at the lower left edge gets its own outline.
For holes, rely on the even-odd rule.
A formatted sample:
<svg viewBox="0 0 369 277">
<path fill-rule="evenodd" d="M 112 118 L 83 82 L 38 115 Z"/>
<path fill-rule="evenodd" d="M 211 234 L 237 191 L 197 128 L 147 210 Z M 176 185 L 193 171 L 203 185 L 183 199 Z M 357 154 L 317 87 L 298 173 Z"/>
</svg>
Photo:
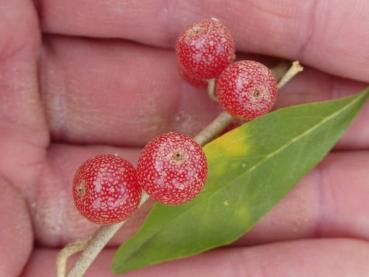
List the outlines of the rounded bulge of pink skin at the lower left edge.
<svg viewBox="0 0 369 277">
<path fill-rule="evenodd" d="M 31 221 L 20 193 L 1 177 L 0 191 L 0 272 L 18 276 L 32 250 Z"/>
</svg>

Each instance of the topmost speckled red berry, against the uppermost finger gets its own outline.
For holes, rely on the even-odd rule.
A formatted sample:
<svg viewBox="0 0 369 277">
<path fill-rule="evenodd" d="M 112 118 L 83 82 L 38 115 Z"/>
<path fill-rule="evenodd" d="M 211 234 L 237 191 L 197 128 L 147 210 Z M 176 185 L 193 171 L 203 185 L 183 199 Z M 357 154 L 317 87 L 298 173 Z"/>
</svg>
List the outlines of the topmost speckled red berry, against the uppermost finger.
<svg viewBox="0 0 369 277">
<path fill-rule="evenodd" d="M 185 30 L 177 40 L 177 61 L 192 78 L 216 78 L 235 57 L 230 31 L 217 18 L 203 19 Z"/>
</svg>

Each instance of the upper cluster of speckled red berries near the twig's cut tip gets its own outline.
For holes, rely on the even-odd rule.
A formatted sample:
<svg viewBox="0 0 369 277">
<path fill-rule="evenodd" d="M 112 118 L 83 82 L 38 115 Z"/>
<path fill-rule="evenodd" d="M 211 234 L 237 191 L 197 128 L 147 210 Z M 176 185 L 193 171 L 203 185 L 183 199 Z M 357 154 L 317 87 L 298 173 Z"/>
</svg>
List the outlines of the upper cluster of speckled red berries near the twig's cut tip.
<svg viewBox="0 0 369 277">
<path fill-rule="evenodd" d="M 236 57 L 231 32 L 217 18 L 186 29 L 176 45 L 183 78 L 196 87 L 216 79 L 215 96 L 232 116 L 252 120 L 269 112 L 277 98 L 277 81 L 269 68 Z"/>
</svg>

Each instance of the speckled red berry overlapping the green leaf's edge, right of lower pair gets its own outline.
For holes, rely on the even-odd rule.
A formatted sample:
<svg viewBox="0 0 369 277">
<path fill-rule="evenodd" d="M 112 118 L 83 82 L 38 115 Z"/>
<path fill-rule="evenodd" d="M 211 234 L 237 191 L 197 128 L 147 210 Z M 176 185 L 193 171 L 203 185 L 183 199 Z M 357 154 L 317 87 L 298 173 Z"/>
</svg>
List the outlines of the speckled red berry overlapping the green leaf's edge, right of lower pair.
<svg viewBox="0 0 369 277">
<path fill-rule="evenodd" d="M 191 137 L 167 133 L 143 149 L 137 165 L 137 179 L 155 200 L 178 205 L 193 199 L 204 187 L 207 160 L 201 146 Z"/>
</svg>

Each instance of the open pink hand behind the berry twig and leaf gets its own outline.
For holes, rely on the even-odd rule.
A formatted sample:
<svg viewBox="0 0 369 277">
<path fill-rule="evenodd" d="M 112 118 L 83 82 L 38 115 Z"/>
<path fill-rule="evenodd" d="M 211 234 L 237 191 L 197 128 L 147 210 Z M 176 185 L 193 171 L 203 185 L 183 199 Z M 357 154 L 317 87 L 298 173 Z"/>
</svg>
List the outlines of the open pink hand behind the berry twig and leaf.
<svg viewBox="0 0 369 277">
<path fill-rule="evenodd" d="M 97 227 L 73 207 L 86 158 L 195 134 L 219 112 L 176 72 L 183 28 L 222 18 L 240 52 L 299 59 L 278 107 L 369 82 L 366 0 L 0 0 L 0 277 L 54 276 L 58 249 Z M 126 276 L 369 276 L 369 105 L 326 159 L 231 247 Z M 114 248 L 87 276 L 110 276 Z"/>
</svg>

